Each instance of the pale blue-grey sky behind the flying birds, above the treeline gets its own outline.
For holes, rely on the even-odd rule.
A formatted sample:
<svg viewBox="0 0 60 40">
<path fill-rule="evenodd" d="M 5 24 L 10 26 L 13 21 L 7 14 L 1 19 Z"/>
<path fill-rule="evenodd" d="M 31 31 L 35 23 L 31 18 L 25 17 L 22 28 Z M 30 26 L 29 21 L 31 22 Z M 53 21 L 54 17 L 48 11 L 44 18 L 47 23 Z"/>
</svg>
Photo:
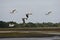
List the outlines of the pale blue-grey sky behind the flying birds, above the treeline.
<svg viewBox="0 0 60 40">
<path fill-rule="evenodd" d="M 14 14 L 11 10 L 16 9 Z M 49 11 L 49 15 L 47 14 Z M 60 22 L 60 0 L 0 0 L 0 21 L 22 23 L 25 14 L 32 15 L 26 23 Z"/>
</svg>

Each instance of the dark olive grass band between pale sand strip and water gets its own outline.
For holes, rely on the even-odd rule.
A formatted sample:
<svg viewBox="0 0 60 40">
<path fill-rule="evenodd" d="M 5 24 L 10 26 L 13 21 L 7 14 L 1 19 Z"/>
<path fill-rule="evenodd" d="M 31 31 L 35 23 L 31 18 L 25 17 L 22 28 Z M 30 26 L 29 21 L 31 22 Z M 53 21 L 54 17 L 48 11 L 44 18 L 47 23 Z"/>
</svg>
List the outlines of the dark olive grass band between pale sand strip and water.
<svg viewBox="0 0 60 40">
<path fill-rule="evenodd" d="M 0 33 L 0 38 L 15 38 L 15 37 L 52 37 L 58 35 L 41 34 L 41 33 Z"/>
</svg>

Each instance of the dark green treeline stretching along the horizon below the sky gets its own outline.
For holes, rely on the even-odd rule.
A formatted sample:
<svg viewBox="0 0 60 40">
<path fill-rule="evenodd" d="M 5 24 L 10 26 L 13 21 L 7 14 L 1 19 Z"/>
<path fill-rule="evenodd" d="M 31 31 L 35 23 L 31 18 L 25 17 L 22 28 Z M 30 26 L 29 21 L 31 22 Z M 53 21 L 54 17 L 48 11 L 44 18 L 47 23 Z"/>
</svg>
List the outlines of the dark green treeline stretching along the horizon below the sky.
<svg viewBox="0 0 60 40">
<path fill-rule="evenodd" d="M 9 24 L 15 24 L 15 26 L 13 28 L 19 28 L 19 27 L 60 27 L 60 23 L 51 23 L 51 22 L 48 22 L 48 23 L 32 23 L 32 22 L 29 22 L 29 23 L 16 23 L 16 22 L 4 22 L 4 21 L 0 21 L 0 28 L 9 28 Z"/>
</svg>

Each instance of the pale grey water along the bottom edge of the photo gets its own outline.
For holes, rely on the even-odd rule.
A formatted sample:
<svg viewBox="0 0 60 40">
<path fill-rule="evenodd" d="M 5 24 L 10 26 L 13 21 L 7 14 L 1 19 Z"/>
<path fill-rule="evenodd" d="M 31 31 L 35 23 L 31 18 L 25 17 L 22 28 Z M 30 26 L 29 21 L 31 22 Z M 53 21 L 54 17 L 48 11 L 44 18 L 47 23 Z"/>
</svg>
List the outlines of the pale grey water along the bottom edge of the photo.
<svg viewBox="0 0 60 40">
<path fill-rule="evenodd" d="M 40 38 L 0 38 L 0 40 L 60 40 L 59 36 Z"/>
</svg>

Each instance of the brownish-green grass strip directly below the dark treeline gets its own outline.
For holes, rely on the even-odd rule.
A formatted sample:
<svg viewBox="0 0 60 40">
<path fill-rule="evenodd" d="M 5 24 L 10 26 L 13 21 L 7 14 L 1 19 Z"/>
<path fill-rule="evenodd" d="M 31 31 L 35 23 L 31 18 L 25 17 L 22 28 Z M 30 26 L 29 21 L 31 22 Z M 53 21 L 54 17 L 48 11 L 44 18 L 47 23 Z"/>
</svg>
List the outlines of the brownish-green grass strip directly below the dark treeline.
<svg viewBox="0 0 60 40">
<path fill-rule="evenodd" d="M 59 28 L 0 28 L 0 31 L 58 31 L 60 32 Z"/>
</svg>

